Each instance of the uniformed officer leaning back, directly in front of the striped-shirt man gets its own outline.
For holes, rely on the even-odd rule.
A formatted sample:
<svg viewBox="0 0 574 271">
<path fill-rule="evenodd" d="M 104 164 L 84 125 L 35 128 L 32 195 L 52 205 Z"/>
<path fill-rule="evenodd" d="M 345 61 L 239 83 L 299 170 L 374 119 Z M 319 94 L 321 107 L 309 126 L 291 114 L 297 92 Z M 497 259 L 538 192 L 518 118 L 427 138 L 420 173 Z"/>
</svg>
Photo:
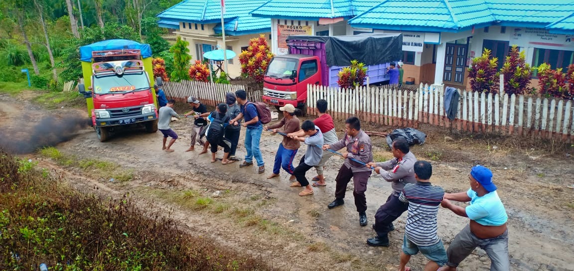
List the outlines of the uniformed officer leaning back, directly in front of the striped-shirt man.
<svg viewBox="0 0 574 271">
<path fill-rule="evenodd" d="M 379 178 L 390 182 L 393 187 L 393 193 L 375 214 L 373 229 L 377 232 L 377 237 L 367 239 L 367 244 L 370 246 L 389 246 L 389 231 L 394 230 L 393 221 L 409 208 L 408 203 L 398 199 L 401 191 L 405 188 L 405 184 L 417 182 L 414 178 L 414 163 L 417 158 L 410 152 L 409 143 L 404 138 L 397 138 L 393 141 L 391 150 L 393 159 L 367 164 L 367 167 L 375 167 Z"/>
</svg>

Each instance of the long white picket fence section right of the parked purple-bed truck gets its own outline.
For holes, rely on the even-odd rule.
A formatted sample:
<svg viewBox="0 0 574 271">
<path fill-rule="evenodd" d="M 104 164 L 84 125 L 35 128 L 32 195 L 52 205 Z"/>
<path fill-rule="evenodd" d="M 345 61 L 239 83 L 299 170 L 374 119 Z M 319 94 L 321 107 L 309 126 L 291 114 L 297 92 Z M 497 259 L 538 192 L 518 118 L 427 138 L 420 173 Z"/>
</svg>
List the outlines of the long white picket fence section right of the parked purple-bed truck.
<svg viewBox="0 0 574 271">
<path fill-rule="evenodd" d="M 461 91 L 456 118 L 444 111 L 444 89 L 420 85 L 408 91 L 379 87 L 342 90 L 308 86 L 308 113 L 316 114 L 317 99 L 326 99 L 333 119 L 355 115 L 363 121 L 398 127 L 420 123 L 474 133 L 574 141 L 572 100 Z"/>
</svg>

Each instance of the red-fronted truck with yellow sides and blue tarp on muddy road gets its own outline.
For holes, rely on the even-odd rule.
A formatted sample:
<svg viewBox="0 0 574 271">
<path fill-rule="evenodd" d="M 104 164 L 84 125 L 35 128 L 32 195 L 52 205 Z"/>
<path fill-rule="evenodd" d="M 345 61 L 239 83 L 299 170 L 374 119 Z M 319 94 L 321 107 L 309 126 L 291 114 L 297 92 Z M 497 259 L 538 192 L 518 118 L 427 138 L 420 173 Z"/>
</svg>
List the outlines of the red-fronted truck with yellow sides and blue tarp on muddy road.
<svg viewBox="0 0 574 271">
<path fill-rule="evenodd" d="M 135 41 L 109 40 L 80 47 L 88 115 L 99 141 L 120 128 L 157 131 L 157 98 L 151 49 Z M 161 79 L 156 79 L 161 86 Z"/>
</svg>

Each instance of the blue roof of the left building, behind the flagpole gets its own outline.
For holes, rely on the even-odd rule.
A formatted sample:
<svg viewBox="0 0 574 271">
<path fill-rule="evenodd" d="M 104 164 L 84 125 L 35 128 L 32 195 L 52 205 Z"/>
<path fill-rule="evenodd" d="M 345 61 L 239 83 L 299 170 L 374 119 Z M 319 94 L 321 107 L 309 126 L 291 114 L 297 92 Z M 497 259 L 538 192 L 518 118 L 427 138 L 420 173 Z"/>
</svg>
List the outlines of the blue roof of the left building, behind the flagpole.
<svg viewBox="0 0 574 271">
<path fill-rule="evenodd" d="M 226 34 L 242 35 L 247 33 L 270 32 L 271 22 L 261 18 L 251 17 L 249 14 L 266 0 L 226 0 L 225 22 Z M 160 26 L 166 27 L 166 22 L 177 23 L 191 22 L 196 24 L 219 23 L 215 28 L 215 34 L 221 33 L 221 1 L 220 0 L 184 0 L 176 5 L 157 14 L 161 22 Z M 230 33 L 227 33 L 227 30 Z"/>
</svg>

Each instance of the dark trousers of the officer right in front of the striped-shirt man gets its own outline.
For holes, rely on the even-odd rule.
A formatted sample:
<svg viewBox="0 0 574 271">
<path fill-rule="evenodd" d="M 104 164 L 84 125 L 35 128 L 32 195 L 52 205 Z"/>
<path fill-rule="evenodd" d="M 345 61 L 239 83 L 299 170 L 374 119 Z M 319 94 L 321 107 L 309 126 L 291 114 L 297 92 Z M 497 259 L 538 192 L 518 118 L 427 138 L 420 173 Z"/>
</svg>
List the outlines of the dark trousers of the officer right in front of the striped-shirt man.
<svg viewBox="0 0 574 271">
<path fill-rule="evenodd" d="M 375 214 L 375 231 L 377 235 L 380 237 L 387 236 L 393 221 L 408 209 L 408 203 L 401 202 L 398 196 L 391 194 L 387 198 L 387 202 L 381 205 Z"/>
</svg>

